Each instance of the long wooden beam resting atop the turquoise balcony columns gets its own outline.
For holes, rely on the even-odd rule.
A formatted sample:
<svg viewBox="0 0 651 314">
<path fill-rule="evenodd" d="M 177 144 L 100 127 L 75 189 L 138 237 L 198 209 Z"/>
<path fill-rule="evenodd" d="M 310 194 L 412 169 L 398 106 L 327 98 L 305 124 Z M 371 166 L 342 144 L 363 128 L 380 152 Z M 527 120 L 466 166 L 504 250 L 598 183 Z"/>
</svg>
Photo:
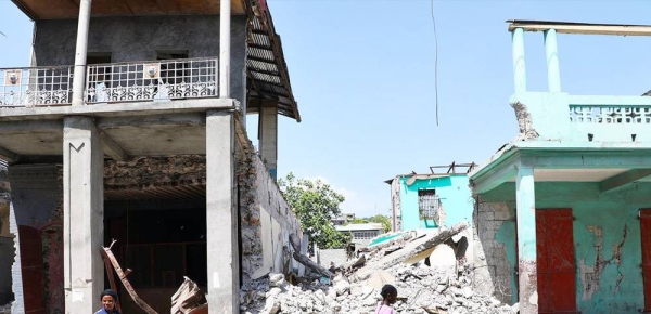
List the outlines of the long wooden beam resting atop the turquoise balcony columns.
<svg viewBox="0 0 651 314">
<path fill-rule="evenodd" d="M 556 29 L 560 34 L 614 35 L 614 36 L 651 36 L 651 26 L 616 25 L 616 24 L 582 24 L 553 22 L 518 22 L 509 24 L 509 31 L 522 28 L 525 31 L 545 31 Z"/>
</svg>

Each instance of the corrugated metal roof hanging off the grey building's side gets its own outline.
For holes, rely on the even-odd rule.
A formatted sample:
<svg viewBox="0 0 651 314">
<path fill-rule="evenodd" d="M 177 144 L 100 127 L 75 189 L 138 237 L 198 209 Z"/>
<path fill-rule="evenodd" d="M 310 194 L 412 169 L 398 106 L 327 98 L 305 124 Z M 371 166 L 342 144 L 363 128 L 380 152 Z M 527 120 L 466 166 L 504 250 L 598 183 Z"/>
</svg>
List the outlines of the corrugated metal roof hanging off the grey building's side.
<svg viewBox="0 0 651 314">
<path fill-rule="evenodd" d="M 250 97 L 277 101 L 278 114 L 301 122 L 298 104 L 292 93 L 280 36 L 273 29 L 271 14 L 264 2 L 251 0 L 251 5 L 247 8 L 251 29 L 246 50 L 246 71 L 256 92 L 250 94 Z M 251 107 L 250 112 L 257 110 Z"/>
</svg>

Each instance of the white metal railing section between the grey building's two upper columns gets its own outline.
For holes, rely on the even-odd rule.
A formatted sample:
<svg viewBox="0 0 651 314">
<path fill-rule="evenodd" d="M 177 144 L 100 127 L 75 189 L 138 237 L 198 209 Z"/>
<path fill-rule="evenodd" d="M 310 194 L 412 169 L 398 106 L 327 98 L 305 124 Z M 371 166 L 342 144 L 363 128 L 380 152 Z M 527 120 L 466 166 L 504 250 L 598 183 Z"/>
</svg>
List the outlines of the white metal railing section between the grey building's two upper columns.
<svg viewBox="0 0 651 314">
<path fill-rule="evenodd" d="M 216 57 L 89 65 L 86 102 L 214 97 L 217 73 Z"/>
</svg>

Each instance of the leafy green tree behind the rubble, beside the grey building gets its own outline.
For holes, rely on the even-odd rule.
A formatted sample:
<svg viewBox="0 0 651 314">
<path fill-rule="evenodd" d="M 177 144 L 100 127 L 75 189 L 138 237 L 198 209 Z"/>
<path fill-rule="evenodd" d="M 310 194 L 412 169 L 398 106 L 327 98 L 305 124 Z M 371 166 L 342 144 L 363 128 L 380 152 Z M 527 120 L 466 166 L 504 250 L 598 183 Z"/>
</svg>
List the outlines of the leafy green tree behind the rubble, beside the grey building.
<svg viewBox="0 0 651 314">
<path fill-rule="evenodd" d="M 290 208 L 296 214 L 310 244 L 321 249 L 343 248 L 350 236 L 334 228 L 331 220 L 341 214 L 345 197 L 321 180 L 297 179 L 289 173 L 278 180 L 278 186 Z"/>
</svg>

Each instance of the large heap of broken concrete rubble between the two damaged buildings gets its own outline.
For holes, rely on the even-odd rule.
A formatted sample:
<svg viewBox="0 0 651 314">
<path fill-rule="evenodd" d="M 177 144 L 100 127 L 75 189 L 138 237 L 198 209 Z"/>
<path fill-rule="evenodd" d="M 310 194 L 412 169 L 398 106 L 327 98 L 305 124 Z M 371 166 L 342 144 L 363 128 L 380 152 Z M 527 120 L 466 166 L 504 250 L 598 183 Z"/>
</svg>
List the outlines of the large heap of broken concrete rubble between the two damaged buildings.
<svg viewBox="0 0 651 314">
<path fill-rule="evenodd" d="M 519 313 L 495 297 L 473 290 L 470 266 L 457 259 L 449 238 L 465 230 L 450 228 L 412 233 L 396 247 L 382 246 L 343 265 L 331 280 L 306 276 L 292 285 L 283 274 L 269 274 L 245 282 L 240 292 L 240 313 L 374 313 L 380 290 L 390 284 L 398 289 L 396 313 Z M 363 265 L 361 269 L 359 266 Z M 316 270 L 314 270 L 316 271 Z M 293 280 L 291 280 L 294 283 Z"/>
</svg>

